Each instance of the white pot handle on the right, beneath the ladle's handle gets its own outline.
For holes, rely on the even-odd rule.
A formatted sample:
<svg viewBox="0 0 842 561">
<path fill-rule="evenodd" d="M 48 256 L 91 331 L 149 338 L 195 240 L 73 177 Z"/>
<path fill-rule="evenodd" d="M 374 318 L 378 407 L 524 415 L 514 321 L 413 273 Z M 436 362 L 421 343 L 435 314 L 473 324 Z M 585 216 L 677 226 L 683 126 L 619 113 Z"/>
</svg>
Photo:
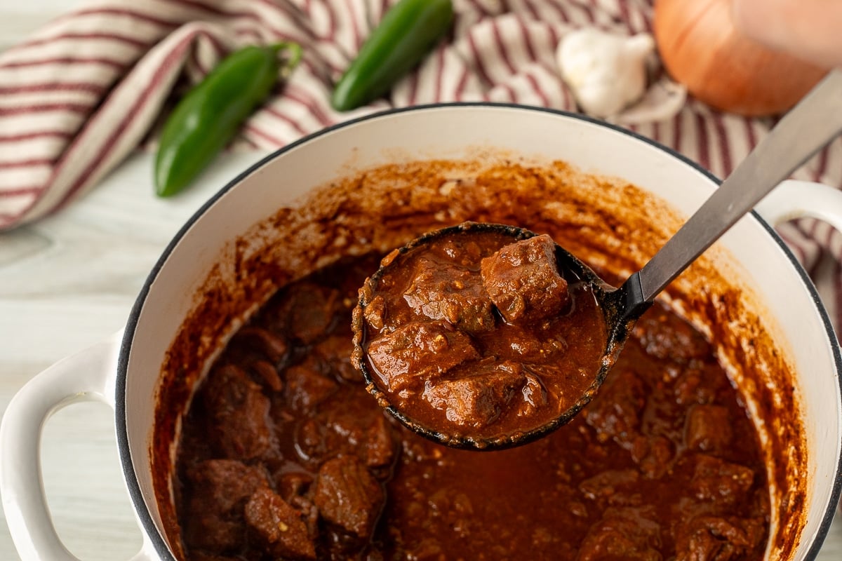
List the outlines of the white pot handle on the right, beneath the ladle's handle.
<svg viewBox="0 0 842 561">
<path fill-rule="evenodd" d="M 773 226 L 808 217 L 842 231 L 842 191 L 822 183 L 789 179 L 775 187 L 754 210 Z"/>
</svg>

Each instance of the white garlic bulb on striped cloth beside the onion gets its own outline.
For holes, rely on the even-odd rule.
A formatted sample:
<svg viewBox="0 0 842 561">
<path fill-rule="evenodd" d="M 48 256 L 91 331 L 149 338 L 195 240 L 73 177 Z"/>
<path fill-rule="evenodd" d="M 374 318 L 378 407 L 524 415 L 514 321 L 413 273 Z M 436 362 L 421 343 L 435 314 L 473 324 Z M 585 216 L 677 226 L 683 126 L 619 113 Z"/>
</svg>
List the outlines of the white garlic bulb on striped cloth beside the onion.
<svg viewBox="0 0 842 561">
<path fill-rule="evenodd" d="M 584 28 L 564 36 L 556 50 L 562 79 L 584 113 L 602 119 L 637 102 L 646 91 L 650 34 L 632 37 Z"/>
</svg>

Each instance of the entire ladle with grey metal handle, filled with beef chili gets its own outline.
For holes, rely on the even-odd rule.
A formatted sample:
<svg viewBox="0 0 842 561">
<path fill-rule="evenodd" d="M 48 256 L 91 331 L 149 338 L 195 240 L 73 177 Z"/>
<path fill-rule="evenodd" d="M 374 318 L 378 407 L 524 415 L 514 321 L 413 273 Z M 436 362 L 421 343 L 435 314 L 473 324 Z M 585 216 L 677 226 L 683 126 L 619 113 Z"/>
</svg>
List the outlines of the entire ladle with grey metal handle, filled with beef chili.
<svg viewBox="0 0 842 561">
<path fill-rule="evenodd" d="M 840 130 L 835 70 L 620 288 L 514 226 L 421 236 L 360 288 L 352 363 L 379 405 L 434 441 L 490 450 L 540 438 L 594 397 L 663 288 Z"/>
</svg>

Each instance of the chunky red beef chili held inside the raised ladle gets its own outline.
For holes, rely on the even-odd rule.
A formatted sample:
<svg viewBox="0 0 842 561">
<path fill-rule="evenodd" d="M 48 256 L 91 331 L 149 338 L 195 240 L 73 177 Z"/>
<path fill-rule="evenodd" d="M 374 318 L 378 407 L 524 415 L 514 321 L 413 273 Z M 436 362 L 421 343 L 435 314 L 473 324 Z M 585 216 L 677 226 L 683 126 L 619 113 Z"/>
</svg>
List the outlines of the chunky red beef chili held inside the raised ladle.
<svg viewBox="0 0 842 561">
<path fill-rule="evenodd" d="M 536 431 L 600 371 L 605 320 L 550 236 L 445 230 L 387 256 L 361 294 L 360 366 L 381 405 L 444 440 Z"/>
</svg>

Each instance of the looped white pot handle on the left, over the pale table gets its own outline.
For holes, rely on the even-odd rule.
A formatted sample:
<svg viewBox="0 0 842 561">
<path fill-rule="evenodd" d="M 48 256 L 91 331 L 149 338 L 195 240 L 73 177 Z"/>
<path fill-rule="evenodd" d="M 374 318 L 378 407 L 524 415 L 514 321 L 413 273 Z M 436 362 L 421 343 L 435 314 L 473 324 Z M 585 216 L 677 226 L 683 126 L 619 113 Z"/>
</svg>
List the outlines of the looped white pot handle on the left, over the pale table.
<svg viewBox="0 0 842 561">
<path fill-rule="evenodd" d="M 15 394 L 0 424 L 3 510 L 22 561 L 79 561 L 56 533 L 41 478 L 40 440 L 46 420 L 80 401 L 115 407 L 115 377 L 122 331 L 53 364 Z M 144 535 L 135 561 L 152 561 Z"/>
</svg>

